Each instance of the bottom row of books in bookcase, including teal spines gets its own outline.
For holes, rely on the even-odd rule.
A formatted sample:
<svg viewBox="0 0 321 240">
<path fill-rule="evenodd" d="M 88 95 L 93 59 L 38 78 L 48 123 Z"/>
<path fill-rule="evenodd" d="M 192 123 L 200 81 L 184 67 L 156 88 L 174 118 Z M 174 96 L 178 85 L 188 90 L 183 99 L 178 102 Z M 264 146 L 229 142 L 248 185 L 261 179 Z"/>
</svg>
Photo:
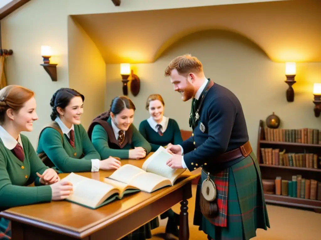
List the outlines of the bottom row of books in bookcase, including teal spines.
<svg viewBox="0 0 321 240">
<path fill-rule="evenodd" d="M 275 194 L 321 200 L 321 182 L 313 179 L 304 179 L 301 175 L 293 175 L 291 181 L 276 177 Z"/>
</svg>

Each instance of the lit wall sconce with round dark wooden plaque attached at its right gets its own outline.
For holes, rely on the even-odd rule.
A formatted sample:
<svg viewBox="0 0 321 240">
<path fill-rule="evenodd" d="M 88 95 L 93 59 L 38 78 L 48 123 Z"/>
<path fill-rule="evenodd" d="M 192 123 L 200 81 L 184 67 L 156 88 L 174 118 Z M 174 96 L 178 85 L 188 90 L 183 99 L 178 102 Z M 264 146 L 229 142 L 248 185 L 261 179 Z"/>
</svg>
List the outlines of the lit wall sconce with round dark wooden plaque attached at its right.
<svg viewBox="0 0 321 240">
<path fill-rule="evenodd" d="M 123 82 L 123 94 L 128 95 L 128 77 L 131 76 L 130 91 L 134 96 L 137 96 L 140 90 L 140 79 L 134 74 L 133 70 L 130 69 L 129 63 L 120 64 L 120 75 L 122 76 Z"/>
</svg>

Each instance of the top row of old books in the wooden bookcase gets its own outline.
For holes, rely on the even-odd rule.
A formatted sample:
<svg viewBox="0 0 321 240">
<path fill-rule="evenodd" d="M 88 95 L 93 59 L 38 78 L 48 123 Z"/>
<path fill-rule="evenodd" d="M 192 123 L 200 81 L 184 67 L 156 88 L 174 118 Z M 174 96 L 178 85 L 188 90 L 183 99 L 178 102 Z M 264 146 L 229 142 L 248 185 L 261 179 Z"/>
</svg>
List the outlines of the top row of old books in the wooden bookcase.
<svg viewBox="0 0 321 240">
<path fill-rule="evenodd" d="M 318 129 L 264 128 L 265 140 L 304 144 L 321 144 L 321 131 Z"/>
</svg>

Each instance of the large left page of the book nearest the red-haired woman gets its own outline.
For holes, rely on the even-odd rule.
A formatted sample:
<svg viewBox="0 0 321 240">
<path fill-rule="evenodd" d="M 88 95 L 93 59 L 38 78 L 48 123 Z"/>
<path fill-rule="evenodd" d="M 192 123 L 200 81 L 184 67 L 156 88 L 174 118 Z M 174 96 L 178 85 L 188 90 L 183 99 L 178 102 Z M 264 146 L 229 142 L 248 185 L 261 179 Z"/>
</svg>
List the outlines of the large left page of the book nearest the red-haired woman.
<svg viewBox="0 0 321 240">
<path fill-rule="evenodd" d="M 96 208 L 109 196 L 119 193 L 119 190 L 107 183 L 70 173 L 62 181 L 68 181 L 73 185 L 73 194 L 66 199 L 91 208 Z"/>
</svg>

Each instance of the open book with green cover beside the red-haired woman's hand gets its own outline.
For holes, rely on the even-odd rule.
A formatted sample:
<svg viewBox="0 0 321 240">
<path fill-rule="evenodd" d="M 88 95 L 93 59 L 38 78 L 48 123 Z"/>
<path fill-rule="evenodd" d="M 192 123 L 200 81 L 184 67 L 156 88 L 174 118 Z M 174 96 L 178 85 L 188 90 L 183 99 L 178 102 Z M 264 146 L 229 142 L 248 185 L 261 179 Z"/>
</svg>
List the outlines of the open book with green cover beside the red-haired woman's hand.
<svg viewBox="0 0 321 240">
<path fill-rule="evenodd" d="M 140 191 L 138 188 L 128 184 L 112 180 L 104 183 L 73 172 L 62 180 L 73 184 L 74 192 L 66 200 L 92 209 L 108 204 L 116 198 L 121 199 L 125 194 Z M 116 185 L 113 184 L 115 182 L 117 183 Z"/>
</svg>

